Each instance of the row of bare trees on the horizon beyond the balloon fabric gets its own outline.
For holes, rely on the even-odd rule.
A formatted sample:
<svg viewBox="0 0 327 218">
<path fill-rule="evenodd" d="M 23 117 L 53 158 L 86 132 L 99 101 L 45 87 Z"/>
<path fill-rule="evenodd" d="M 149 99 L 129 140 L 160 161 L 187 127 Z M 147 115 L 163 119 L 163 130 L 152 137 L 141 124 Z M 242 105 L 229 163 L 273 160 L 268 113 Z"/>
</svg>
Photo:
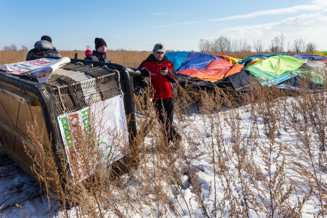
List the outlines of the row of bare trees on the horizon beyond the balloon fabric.
<svg viewBox="0 0 327 218">
<path fill-rule="evenodd" d="M 247 39 L 230 39 L 225 36 L 219 36 L 213 40 L 202 38 L 199 40 L 198 48 L 200 52 L 314 52 L 318 46 L 315 42 L 310 41 L 305 43 L 305 39 L 295 39 L 293 42 L 286 43 L 286 36 L 281 33 L 274 39 L 270 40 L 268 48 L 265 49 L 265 44 L 261 39 L 253 40 L 251 46 Z"/>
</svg>

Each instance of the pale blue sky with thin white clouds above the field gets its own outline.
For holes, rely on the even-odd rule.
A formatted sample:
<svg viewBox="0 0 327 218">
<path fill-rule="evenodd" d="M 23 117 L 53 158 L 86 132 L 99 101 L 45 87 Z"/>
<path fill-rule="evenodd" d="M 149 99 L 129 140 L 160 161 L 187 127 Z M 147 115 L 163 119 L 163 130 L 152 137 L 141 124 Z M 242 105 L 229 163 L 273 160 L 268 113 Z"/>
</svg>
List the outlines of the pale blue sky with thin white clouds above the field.
<svg viewBox="0 0 327 218">
<path fill-rule="evenodd" d="M 327 0 L 16 1 L 0 0 L 0 49 L 29 49 L 42 35 L 59 50 L 94 49 L 95 37 L 111 49 L 198 50 L 201 38 L 243 38 L 266 47 L 284 33 L 286 42 L 304 38 L 327 50 Z"/>
</svg>

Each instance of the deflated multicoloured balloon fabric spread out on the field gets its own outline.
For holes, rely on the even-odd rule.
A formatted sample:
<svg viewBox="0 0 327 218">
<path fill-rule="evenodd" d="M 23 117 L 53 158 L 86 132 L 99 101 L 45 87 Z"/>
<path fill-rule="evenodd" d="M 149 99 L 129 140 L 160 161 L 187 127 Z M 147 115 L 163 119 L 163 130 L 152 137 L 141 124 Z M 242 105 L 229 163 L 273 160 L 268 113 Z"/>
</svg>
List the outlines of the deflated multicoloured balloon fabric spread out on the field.
<svg viewBox="0 0 327 218">
<path fill-rule="evenodd" d="M 296 90 L 299 80 L 311 81 L 311 87 L 323 84 L 322 72 L 327 70 L 327 53 L 257 54 L 243 60 L 227 55 L 177 51 L 165 55 L 174 62 L 179 82 L 190 86 L 230 87 L 248 90 L 259 81 L 263 86 Z"/>
</svg>

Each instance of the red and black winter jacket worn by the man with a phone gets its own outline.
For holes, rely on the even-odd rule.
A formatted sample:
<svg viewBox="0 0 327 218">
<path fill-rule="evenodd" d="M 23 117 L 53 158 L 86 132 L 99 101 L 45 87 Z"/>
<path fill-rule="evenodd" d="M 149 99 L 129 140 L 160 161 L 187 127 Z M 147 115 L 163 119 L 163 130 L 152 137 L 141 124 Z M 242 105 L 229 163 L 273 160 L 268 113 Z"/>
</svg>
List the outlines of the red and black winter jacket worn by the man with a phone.
<svg viewBox="0 0 327 218">
<path fill-rule="evenodd" d="M 159 72 L 162 66 L 167 66 L 168 74 L 162 76 Z M 153 85 L 154 99 L 166 99 L 172 98 L 175 95 L 175 83 L 178 81 L 175 74 L 174 63 L 168 60 L 166 56 L 163 56 L 162 60 L 157 60 L 153 54 L 150 54 L 146 60 L 144 60 L 139 69 L 146 68 L 150 73 L 151 82 Z"/>
</svg>

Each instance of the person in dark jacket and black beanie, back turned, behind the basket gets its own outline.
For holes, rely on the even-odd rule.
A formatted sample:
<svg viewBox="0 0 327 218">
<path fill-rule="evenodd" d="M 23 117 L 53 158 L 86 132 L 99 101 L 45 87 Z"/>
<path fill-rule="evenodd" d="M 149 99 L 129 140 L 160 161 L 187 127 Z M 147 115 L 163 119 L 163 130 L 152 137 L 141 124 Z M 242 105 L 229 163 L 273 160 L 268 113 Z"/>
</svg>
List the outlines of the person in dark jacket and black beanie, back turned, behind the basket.
<svg viewBox="0 0 327 218">
<path fill-rule="evenodd" d="M 26 61 L 39 59 L 45 56 L 61 57 L 56 47 L 52 44 L 52 39 L 49 36 L 42 36 L 40 41 L 34 44 L 26 55 Z"/>
</svg>

